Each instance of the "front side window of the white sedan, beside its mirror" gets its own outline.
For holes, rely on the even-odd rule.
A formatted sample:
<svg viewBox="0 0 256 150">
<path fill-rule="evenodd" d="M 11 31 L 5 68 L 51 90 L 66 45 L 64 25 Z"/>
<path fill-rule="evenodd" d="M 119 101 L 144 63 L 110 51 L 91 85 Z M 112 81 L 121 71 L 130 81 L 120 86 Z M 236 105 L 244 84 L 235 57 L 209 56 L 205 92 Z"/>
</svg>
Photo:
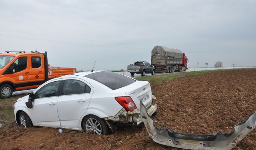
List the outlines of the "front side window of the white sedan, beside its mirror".
<svg viewBox="0 0 256 150">
<path fill-rule="evenodd" d="M 57 91 L 60 81 L 51 82 L 40 88 L 36 93 L 36 98 L 46 98 L 51 96 L 57 96 Z"/>
</svg>

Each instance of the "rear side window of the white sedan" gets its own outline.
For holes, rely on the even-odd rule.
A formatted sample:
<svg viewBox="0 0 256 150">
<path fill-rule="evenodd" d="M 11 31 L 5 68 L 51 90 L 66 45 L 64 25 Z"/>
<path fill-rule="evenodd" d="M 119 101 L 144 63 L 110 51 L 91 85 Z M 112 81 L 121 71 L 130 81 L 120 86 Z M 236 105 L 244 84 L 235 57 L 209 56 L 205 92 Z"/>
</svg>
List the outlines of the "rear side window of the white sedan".
<svg viewBox="0 0 256 150">
<path fill-rule="evenodd" d="M 79 80 L 65 80 L 62 95 L 90 93 L 91 88 Z"/>
</svg>

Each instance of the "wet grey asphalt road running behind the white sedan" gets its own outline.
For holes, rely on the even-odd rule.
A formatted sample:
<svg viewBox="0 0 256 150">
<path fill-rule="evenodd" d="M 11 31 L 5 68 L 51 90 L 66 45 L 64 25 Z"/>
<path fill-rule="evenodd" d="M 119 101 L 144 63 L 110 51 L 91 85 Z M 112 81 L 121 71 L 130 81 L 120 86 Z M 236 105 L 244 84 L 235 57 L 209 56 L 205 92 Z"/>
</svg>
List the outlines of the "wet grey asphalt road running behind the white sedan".
<svg viewBox="0 0 256 150">
<path fill-rule="evenodd" d="M 256 68 L 256 67 L 235 67 L 236 69 L 238 68 Z M 190 71 L 201 71 L 201 70 L 218 70 L 218 69 L 233 69 L 233 67 L 222 67 L 222 68 L 189 68 L 188 70 L 186 71 L 181 71 L 181 72 L 190 72 Z M 124 72 L 117 72 L 119 74 L 124 74 L 126 76 L 131 76 L 131 74 L 127 71 L 124 71 Z M 172 74 L 175 74 L 177 72 L 173 72 Z M 156 73 L 155 75 L 159 75 L 159 74 L 165 74 L 165 73 Z M 146 76 L 152 76 L 151 74 L 146 74 Z M 141 77 L 141 74 L 134 74 L 134 77 L 132 78 L 135 78 L 135 77 Z M 29 93 L 32 93 L 35 89 L 31 89 L 31 90 L 23 90 L 23 91 L 16 91 L 16 92 L 13 92 L 13 96 L 14 95 L 20 95 L 20 94 L 29 94 Z"/>
</svg>

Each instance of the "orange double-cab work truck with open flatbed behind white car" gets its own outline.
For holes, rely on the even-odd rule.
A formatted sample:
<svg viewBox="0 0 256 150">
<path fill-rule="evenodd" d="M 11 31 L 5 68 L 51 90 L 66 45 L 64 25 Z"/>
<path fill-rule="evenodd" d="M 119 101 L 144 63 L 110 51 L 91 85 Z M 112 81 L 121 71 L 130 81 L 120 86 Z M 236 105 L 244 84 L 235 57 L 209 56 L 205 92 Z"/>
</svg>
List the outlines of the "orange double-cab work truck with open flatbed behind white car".
<svg viewBox="0 0 256 150">
<path fill-rule="evenodd" d="M 6 51 L 0 54 L 0 98 L 13 91 L 37 88 L 51 78 L 76 73 L 76 68 L 49 67 L 47 52 Z"/>
</svg>

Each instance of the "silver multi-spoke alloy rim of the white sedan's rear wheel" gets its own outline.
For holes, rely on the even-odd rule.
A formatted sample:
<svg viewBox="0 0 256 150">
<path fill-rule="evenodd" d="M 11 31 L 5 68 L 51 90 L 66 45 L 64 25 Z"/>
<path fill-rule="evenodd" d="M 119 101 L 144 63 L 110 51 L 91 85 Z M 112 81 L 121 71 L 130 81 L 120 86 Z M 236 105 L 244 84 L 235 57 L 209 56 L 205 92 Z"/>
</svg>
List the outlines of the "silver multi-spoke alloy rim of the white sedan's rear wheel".
<svg viewBox="0 0 256 150">
<path fill-rule="evenodd" d="M 100 122 L 94 118 L 89 118 L 85 122 L 85 128 L 86 131 L 92 130 L 94 134 L 101 134 L 102 133 L 102 127 L 100 125 Z"/>
</svg>

